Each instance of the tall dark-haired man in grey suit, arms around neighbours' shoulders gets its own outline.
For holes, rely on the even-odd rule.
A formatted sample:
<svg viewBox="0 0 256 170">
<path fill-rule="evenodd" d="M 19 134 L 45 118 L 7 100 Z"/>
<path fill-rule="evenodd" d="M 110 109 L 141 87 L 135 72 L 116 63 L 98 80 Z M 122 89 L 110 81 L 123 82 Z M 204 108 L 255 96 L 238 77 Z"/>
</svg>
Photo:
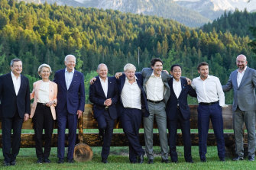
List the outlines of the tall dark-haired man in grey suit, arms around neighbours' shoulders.
<svg viewBox="0 0 256 170">
<path fill-rule="evenodd" d="M 143 88 L 147 95 L 147 105 L 149 117 L 143 117 L 145 151 L 147 153 L 147 163 L 154 163 L 153 155 L 153 124 L 154 117 L 157 120 L 159 130 L 159 140 L 161 147 L 162 162 L 168 161 L 168 140 L 167 140 L 167 115 L 165 104 L 170 97 L 170 87 L 168 79 L 170 75 L 162 72 L 163 62 L 155 58 L 151 60 L 151 68 L 144 68 L 141 71 L 143 76 Z"/>
</svg>

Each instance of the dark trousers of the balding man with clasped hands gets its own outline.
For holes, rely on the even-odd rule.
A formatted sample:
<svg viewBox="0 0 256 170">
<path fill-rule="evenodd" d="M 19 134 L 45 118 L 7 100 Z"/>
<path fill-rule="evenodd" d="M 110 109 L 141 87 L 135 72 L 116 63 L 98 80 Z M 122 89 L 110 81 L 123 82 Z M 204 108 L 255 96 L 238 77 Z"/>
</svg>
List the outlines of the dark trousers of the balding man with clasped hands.
<svg viewBox="0 0 256 170">
<path fill-rule="evenodd" d="M 97 117 L 97 121 L 103 135 L 102 159 L 108 159 L 115 120 L 112 120 L 109 111 L 104 111 L 104 114 Z"/>
</svg>

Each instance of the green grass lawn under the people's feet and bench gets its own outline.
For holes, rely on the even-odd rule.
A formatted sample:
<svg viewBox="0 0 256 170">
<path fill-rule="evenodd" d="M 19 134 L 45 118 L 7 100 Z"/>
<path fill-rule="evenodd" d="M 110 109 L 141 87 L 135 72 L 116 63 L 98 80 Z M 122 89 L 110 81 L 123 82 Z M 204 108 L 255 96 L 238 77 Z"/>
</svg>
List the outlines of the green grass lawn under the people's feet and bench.
<svg viewBox="0 0 256 170">
<path fill-rule="evenodd" d="M 57 164 L 57 148 L 52 148 L 50 153 L 50 164 L 38 165 L 35 162 L 37 158 L 35 156 L 34 148 L 22 148 L 18 157 L 17 165 L 9 167 L 1 167 L 2 169 L 254 169 L 256 168 L 256 162 L 248 162 L 247 160 L 232 162 L 230 158 L 226 159 L 226 162 L 220 162 L 217 156 L 217 150 L 215 146 L 208 147 L 208 153 L 206 155 L 207 162 L 199 162 L 198 146 L 192 147 L 192 155 L 195 163 L 186 163 L 183 158 L 183 147 L 177 147 L 179 162 L 175 163 L 161 163 L 160 160 L 160 147 L 155 146 L 154 152 L 155 159 L 153 165 L 148 165 L 147 159 L 141 165 L 131 164 L 128 160 L 128 147 L 111 147 L 111 153 L 109 156 L 109 164 L 103 164 L 100 157 L 101 147 L 92 147 L 93 158 L 91 162 L 75 162 L 74 164 Z M 3 162 L 2 149 L 0 149 L 0 161 Z"/>
</svg>

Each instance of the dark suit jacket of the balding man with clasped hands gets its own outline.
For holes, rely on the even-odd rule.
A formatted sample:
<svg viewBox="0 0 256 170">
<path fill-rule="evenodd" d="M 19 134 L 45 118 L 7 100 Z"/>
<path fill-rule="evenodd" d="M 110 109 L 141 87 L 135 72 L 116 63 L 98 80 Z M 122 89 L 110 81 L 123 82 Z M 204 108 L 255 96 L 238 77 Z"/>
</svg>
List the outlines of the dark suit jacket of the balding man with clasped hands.
<svg viewBox="0 0 256 170">
<path fill-rule="evenodd" d="M 89 86 L 89 100 L 93 103 L 93 113 L 95 118 L 104 113 L 104 101 L 108 98 L 112 99 L 112 104 L 109 106 L 110 117 L 116 119 L 118 114 L 115 104 L 118 102 L 118 87 L 115 78 L 108 77 L 108 94 L 107 97 L 105 97 L 99 76 L 96 76 L 96 81 Z"/>
</svg>

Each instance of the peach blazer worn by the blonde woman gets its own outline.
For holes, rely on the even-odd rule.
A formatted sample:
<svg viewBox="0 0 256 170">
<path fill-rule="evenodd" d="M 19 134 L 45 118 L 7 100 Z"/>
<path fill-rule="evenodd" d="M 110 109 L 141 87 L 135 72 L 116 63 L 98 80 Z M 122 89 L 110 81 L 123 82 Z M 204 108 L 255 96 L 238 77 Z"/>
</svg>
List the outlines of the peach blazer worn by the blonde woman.
<svg viewBox="0 0 256 170">
<path fill-rule="evenodd" d="M 41 83 L 43 81 L 39 80 L 37 82 L 34 82 L 33 84 L 33 91 L 31 92 L 31 99 L 34 98 L 34 102 L 31 106 L 31 116 L 30 118 L 34 117 L 34 112 L 37 108 L 37 100 L 38 100 L 38 91 L 41 87 Z M 55 82 L 49 82 L 49 101 L 55 101 L 55 104 L 50 106 L 50 111 L 53 116 L 53 120 L 56 120 L 56 111 L 55 106 L 57 104 L 57 84 Z"/>
</svg>

